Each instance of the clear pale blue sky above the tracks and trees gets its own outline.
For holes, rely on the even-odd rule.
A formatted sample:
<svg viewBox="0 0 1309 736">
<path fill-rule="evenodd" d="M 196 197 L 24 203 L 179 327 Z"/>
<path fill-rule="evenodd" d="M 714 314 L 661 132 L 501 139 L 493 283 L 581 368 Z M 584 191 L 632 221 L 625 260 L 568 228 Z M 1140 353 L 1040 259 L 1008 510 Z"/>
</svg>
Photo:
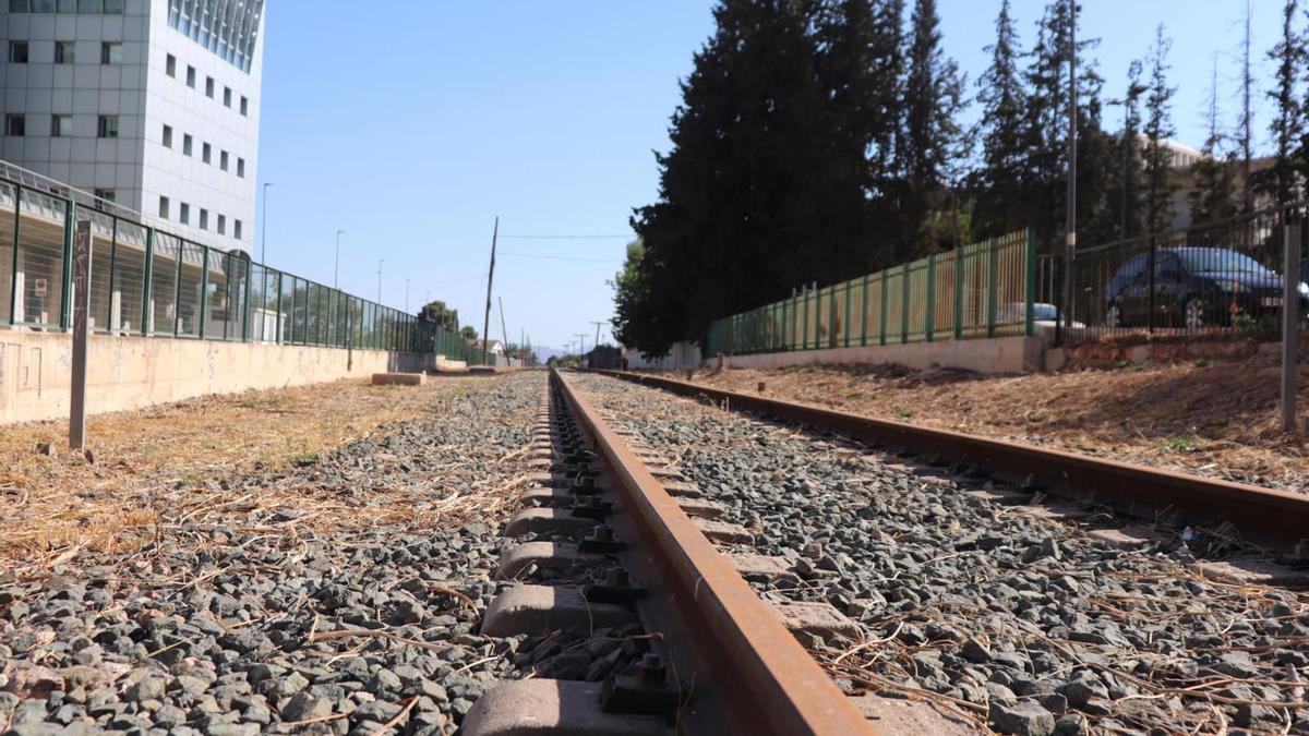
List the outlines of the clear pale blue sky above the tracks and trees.
<svg viewBox="0 0 1309 736">
<path fill-rule="evenodd" d="M 912 3 L 910 3 L 912 4 Z M 631 208 L 653 199 L 652 151 L 668 147 L 678 80 L 712 31 L 692 0 L 279 0 L 267 20 L 259 182 L 268 193 L 268 262 L 418 310 L 429 292 L 482 329 L 495 216 L 495 295 L 511 339 L 559 347 L 613 313 Z M 1014 0 L 1025 43 L 1043 0 Z M 1234 118 L 1241 0 L 1084 0 L 1083 35 L 1107 93 L 1148 50 L 1174 39 L 1178 138 L 1203 141 L 1202 113 L 1219 54 L 1221 101 Z M 1280 0 L 1254 0 L 1262 52 Z M 999 0 L 940 0 L 946 51 L 970 80 L 986 68 Z M 970 86 L 970 92 L 975 88 Z M 1261 100 L 1262 103 L 1262 100 Z M 1110 115 L 1117 117 L 1117 110 Z M 1267 115 L 1257 120 L 1261 143 Z M 260 198 L 259 210 L 263 210 Z M 260 255 L 260 220 L 255 257 Z M 603 329 L 607 334 L 607 326 Z M 500 338 L 499 308 L 492 337 Z"/>
</svg>

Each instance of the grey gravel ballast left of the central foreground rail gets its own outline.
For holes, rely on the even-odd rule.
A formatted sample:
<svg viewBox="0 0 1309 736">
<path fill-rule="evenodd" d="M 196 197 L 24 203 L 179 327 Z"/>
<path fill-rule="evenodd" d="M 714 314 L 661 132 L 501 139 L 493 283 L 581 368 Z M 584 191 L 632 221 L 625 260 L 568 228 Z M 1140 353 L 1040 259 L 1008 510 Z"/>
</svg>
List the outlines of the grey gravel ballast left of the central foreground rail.
<svg viewBox="0 0 1309 736">
<path fill-rule="evenodd" d="M 249 500 L 173 509 L 140 549 L 0 574 L 0 732 L 452 733 L 496 680 L 584 678 L 610 648 L 476 634 L 545 385 L 488 378 L 288 470 L 216 474 Z"/>
</svg>

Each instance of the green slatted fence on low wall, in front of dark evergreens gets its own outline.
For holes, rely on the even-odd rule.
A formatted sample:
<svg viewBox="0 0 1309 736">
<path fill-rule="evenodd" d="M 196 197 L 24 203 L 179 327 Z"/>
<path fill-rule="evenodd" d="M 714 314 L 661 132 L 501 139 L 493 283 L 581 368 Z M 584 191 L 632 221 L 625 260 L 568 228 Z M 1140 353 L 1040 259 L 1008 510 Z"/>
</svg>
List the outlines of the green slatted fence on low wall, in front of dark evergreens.
<svg viewBox="0 0 1309 736">
<path fill-rule="evenodd" d="M 1011 233 L 709 325 L 708 355 L 1031 335 L 1037 241 Z"/>
</svg>

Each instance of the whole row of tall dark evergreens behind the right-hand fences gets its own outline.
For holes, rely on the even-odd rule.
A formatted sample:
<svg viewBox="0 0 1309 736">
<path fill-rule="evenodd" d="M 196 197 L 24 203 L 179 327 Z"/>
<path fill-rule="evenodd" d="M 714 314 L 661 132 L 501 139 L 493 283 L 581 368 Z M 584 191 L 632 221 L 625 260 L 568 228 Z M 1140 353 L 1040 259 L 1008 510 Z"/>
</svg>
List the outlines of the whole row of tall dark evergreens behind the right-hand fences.
<svg viewBox="0 0 1309 736">
<path fill-rule="evenodd" d="M 1204 155 L 1190 172 L 1192 221 L 1299 200 L 1309 174 L 1309 16 L 1285 0 L 1251 72 L 1250 16 L 1236 122 L 1217 65 Z M 1025 46 L 1001 0 L 975 83 L 942 50 L 936 0 L 720 0 L 715 31 L 682 80 L 657 199 L 615 276 L 614 334 L 662 355 L 719 317 L 1026 227 L 1062 242 L 1071 88 L 1076 88 L 1079 242 L 1166 229 L 1178 170 L 1164 25 L 1126 80 L 1101 76 L 1081 7 L 1046 5 Z M 906 17 L 907 16 L 907 17 Z M 1073 39 L 1076 38 L 1076 43 Z M 1076 83 L 1069 60 L 1076 46 Z M 973 94 L 970 94 L 973 90 Z M 1266 94 L 1272 161 L 1255 170 L 1254 100 Z M 961 122 L 969 105 L 978 122 Z M 1113 115 L 1114 120 L 1107 118 Z"/>
</svg>

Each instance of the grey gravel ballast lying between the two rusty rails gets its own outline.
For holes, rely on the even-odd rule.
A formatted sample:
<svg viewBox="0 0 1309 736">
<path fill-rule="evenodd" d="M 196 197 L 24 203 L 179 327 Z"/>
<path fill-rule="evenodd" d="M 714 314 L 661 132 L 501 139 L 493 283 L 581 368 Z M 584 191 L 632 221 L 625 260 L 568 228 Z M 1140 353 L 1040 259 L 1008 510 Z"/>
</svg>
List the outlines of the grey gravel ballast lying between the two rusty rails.
<svg viewBox="0 0 1309 736">
<path fill-rule="evenodd" d="M 1173 533 L 1144 549 L 969 494 L 995 488 L 830 436 L 575 376 L 791 570 L 766 598 L 826 601 L 864 640 L 805 643 L 851 691 L 925 698 L 1008 733 L 1305 732 L 1309 609 L 1203 579 Z M 1192 545 L 1195 542 L 1192 541 Z M 730 550 L 732 547 L 724 547 Z"/>
</svg>

